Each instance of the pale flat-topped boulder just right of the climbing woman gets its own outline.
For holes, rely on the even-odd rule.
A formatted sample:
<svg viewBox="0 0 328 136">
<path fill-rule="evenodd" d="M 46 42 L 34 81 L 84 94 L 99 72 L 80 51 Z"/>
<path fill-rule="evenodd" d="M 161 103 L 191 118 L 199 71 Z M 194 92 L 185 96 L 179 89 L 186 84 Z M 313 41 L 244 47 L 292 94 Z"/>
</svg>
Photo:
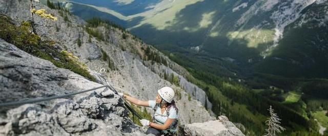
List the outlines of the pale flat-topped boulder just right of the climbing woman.
<svg viewBox="0 0 328 136">
<path fill-rule="evenodd" d="M 180 135 L 244 135 L 232 122 L 228 120 L 226 116 L 220 116 L 219 120 L 187 124 L 182 126 L 180 130 Z"/>
</svg>

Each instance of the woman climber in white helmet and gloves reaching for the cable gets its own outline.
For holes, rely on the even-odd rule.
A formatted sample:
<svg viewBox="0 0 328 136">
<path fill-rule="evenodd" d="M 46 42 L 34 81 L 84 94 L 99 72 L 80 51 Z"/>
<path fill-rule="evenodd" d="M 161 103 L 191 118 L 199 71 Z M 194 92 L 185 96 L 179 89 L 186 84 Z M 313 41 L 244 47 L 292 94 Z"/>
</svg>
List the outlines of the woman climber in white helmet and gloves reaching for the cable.
<svg viewBox="0 0 328 136">
<path fill-rule="evenodd" d="M 137 98 L 118 93 L 119 96 L 140 106 L 153 108 L 155 114 L 153 121 L 141 119 L 142 126 L 150 126 L 146 134 L 154 135 L 176 135 L 178 126 L 178 108 L 173 100 L 175 93 L 170 87 L 163 87 L 157 91 L 156 100 L 142 101 Z"/>
</svg>

